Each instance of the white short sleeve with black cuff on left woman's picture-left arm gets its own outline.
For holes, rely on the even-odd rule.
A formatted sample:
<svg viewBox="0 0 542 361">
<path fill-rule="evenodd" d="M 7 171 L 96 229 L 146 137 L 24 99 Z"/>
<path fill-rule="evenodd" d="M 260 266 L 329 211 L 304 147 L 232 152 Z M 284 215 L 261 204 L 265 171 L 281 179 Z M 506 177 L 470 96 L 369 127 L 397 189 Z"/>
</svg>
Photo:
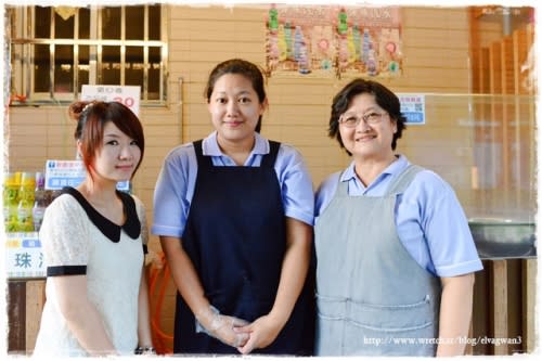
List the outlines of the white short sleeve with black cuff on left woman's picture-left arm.
<svg viewBox="0 0 542 361">
<path fill-rule="evenodd" d="M 88 225 L 87 214 L 72 195 L 59 196 L 46 209 L 39 238 L 48 275 L 86 273 L 90 253 Z"/>
</svg>

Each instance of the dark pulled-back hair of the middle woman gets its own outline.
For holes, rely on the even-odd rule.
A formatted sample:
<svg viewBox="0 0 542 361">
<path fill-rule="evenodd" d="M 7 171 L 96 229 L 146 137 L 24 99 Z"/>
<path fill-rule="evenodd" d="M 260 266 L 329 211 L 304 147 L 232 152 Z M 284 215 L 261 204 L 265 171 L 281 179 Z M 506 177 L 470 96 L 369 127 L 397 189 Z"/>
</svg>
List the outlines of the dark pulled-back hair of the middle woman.
<svg viewBox="0 0 542 361">
<path fill-rule="evenodd" d="M 210 72 L 209 79 L 207 80 L 207 86 L 205 87 L 205 99 L 207 103 L 210 102 L 210 95 L 215 89 L 215 83 L 217 80 L 225 74 L 238 74 L 250 80 L 253 88 L 258 94 L 258 100 L 260 104 L 266 101 L 266 87 L 263 81 L 262 70 L 254 63 L 245 61 L 243 59 L 230 59 L 215 66 Z M 258 124 L 256 125 L 256 131 L 261 130 L 261 115 L 258 118 Z"/>
</svg>

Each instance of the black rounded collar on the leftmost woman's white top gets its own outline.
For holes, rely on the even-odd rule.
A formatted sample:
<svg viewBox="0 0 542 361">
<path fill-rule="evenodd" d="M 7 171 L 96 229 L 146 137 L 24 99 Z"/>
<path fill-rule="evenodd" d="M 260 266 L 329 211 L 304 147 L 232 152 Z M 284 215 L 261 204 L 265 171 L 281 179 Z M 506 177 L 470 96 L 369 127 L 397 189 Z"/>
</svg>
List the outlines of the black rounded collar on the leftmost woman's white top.
<svg viewBox="0 0 542 361">
<path fill-rule="evenodd" d="M 126 214 L 126 222 L 122 225 L 115 224 L 102 216 L 75 188 L 65 186 L 62 189 L 62 194 L 69 194 L 76 198 L 92 223 L 112 242 L 117 243 L 120 241 L 121 230 L 125 230 L 126 234 L 132 240 L 138 238 L 141 234 L 141 222 L 136 210 L 136 202 L 129 194 L 117 191 L 117 196 L 120 197 Z"/>
</svg>

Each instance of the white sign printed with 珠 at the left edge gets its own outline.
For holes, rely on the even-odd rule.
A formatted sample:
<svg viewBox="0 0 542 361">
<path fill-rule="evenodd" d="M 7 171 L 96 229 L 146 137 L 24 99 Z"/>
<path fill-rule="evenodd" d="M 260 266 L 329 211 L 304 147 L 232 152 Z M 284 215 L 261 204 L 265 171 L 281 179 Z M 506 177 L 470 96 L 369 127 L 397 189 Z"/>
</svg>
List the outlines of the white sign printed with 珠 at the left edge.
<svg viewBox="0 0 542 361">
<path fill-rule="evenodd" d="M 4 249 L 9 279 L 46 276 L 43 252 L 37 232 L 5 233 Z"/>
</svg>

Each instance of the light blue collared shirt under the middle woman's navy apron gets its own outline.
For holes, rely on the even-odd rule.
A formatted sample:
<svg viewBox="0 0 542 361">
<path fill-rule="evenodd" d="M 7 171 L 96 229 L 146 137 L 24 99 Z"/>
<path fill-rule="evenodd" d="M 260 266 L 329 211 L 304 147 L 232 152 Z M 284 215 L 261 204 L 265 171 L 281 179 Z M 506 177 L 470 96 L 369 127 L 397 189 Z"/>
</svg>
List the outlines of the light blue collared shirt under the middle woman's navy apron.
<svg viewBox="0 0 542 361">
<path fill-rule="evenodd" d="M 259 167 L 263 155 L 269 154 L 269 141 L 258 133 L 255 133 L 255 138 L 245 167 Z M 203 140 L 202 151 L 204 155 L 211 156 L 217 167 L 236 166 L 232 158 L 220 151 L 216 131 Z M 274 170 L 281 186 L 285 216 L 313 225 L 314 193 L 301 154 L 293 146 L 281 143 Z M 154 191 L 153 234 L 182 236 L 194 196 L 196 176 L 197 158 L 193 143 L 179 145 L 166 156 Z M 220 184 L 217 186 L 220 188 Z"/>
</svg>

